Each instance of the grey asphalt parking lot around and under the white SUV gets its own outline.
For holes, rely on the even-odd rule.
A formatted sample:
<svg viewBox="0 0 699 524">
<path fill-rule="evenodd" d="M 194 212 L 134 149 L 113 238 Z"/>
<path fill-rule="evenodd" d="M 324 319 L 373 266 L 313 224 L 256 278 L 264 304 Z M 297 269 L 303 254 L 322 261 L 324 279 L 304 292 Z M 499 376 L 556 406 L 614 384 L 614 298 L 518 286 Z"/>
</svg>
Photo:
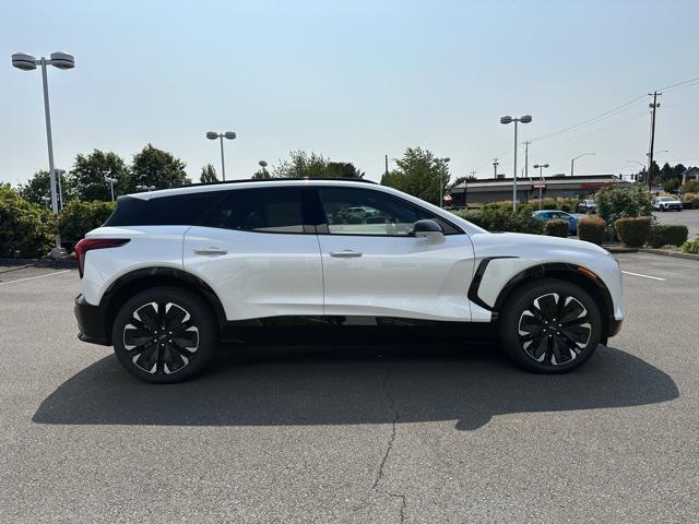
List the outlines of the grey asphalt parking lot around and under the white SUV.
<svg viewBox="0 0 699 524">
<path fill-rule="evenodd" d="M 0 521 L 696 522 L 699 263 L 618 259 L 624 330 L 567 376 L 264 347 L 167 386 L 75 338 L 76 271 L 0 269 Z"/>
</svg>

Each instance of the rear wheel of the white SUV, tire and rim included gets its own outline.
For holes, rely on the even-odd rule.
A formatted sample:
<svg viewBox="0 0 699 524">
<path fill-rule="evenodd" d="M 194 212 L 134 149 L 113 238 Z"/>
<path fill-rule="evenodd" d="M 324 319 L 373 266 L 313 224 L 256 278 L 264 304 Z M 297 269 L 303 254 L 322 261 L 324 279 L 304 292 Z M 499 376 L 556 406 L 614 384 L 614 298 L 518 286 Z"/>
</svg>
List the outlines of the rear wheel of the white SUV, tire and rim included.
<svg viewBox="0 0 699 524">
<path fill-rule="evenodd" d="M 134 377 L 158 384 L 200 373 L 217 347 L 211 308 L 178 287 L 154 287 L 127 300 L 111 333 L 121 366 Z"/>
</svg>

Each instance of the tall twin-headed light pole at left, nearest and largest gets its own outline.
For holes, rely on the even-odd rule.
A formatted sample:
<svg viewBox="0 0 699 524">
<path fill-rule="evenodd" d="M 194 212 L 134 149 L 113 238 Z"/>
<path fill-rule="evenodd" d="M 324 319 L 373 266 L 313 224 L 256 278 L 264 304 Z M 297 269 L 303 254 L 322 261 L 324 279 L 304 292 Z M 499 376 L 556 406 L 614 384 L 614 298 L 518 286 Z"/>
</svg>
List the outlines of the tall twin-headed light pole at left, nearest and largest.
<svg viewBox="0 0 699 524">
<path fill-rule="evenodd" d="M 68 52 L 51 52 L 50 58 L 42 57 L 36 59 L 25 52 L 12 55 L 12 66 L 22 71 L 33 71 L 37 66 L 42 67 L 42 81 L 44 84 L 44 116 L 46 118 L 46 142 L 48 143 L 48 176 L 51 184 L 51 211 L 58 214 L 58 196 L 56 194 L 56 170 L 54 167 L 54 139 L 51 136 L 51 111 L 48 105 L 48 75 L 46 66 L 54 66 L 58 69 L 73 69 L 75 58 Z M 56 247 L 51 249 L 51 257 L 57 259 L 63 257 L 66 250 L 61 248 L 61 237 L 56 234 Z"/>
</svg>

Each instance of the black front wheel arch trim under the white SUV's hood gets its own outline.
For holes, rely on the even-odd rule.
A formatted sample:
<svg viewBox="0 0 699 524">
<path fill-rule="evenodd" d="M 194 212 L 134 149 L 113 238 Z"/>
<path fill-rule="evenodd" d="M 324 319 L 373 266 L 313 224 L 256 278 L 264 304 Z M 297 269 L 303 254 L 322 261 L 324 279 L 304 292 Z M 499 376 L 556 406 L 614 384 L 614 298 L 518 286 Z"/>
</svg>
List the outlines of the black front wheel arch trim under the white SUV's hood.
<svg viewBox="0 0 699 524">
<path fill-rule="evenodd" d="M 494 318 L 497 318 L 497 314 L 502 309 L 507 298 L 511 296 L 512 293 L 516 293 L 519 287 L 532 279 L 544 277 L 557 278 L 576 284 L 592 297 L 592 299 L 600 306 L 600 315 L 603 319 L 601 343 L 606 344 L 609 335 L 609 320 L 614 319 L 614 302 L 612 300 L 612 294 L 602 278 L 600 278 L 593 271 L 578 264 L 549 262 L 522 270 L 520 273 L 512 276 L 498 294 L 498 297 L 491 308 L 494 311 Z"/>
</svg>

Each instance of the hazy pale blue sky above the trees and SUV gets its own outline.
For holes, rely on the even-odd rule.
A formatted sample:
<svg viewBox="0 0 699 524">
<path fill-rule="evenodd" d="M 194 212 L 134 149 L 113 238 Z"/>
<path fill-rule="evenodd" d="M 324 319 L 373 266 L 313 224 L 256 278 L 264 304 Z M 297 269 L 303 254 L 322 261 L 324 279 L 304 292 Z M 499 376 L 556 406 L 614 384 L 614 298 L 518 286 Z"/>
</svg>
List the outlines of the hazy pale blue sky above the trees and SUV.
<svg viewBox="0 0 699 524">
<path fill-rule="evenodd" d="M 530 166 L 569 172 L 594 153 L 577 175 L 633 172 L 647 94 L 699 78 L 697 27 L 696 0 L 3 1 L 0 182 L 48 166 L 39 71 L 10 56 L 57 50 L 76 63 L 48 71 L 57 168 L 152 143 L 198 181 L 208 163 L 220 171 L 206 131 L 235 131 L 228 179 L 305 150 L 379 180 L 384 155 L 414 146 L 450 157 L 452 178 L 491 177 L 496 156 L 511 177 L 499 117 L 529 114 Z M 656 158 L 699 165 L 699 81 L 660 102 Z"/>
</svg>

